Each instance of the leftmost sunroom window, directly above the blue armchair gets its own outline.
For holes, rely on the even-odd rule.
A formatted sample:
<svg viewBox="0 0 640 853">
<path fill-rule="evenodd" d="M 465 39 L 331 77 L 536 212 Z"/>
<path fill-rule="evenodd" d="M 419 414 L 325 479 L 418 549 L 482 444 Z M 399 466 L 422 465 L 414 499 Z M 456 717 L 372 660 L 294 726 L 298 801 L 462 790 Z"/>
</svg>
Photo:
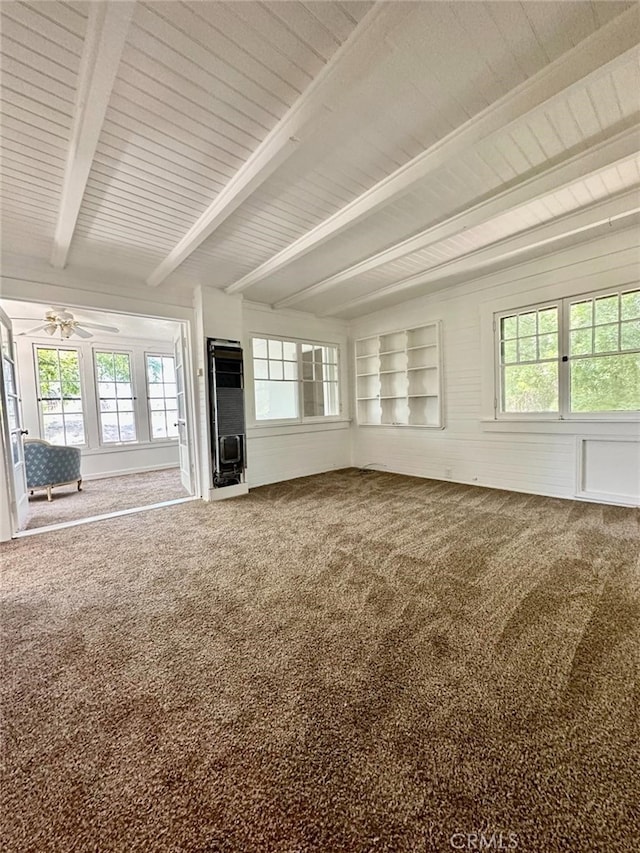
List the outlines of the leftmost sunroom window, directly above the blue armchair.
<svg viewBox="0 0 640 853">
<path fill-rule="evenodd" d="M 36 370 L 42 436 L 53 444 L 85 444 L 78 350 L 36 347 Z"/>
</svg>

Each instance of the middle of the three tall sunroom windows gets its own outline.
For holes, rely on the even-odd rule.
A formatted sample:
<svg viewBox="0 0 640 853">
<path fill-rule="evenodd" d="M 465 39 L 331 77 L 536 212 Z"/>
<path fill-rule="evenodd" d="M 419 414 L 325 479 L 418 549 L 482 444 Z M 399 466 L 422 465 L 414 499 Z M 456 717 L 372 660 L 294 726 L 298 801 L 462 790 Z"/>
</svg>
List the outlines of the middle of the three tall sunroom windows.
<svg viewBox="0 0 640 853">
<path fill-rule="evenodd" d="M 104 444 L 136 441 L 131 359 L 126 352 L 95 352 L 100 434 Z"/>
</svg>

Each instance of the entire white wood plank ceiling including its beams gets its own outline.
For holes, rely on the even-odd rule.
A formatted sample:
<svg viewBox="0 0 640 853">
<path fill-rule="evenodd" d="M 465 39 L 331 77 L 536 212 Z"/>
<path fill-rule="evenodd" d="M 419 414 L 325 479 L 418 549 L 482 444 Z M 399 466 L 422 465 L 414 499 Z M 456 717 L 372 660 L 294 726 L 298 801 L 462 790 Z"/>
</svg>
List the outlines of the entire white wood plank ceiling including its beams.
<svg viewBox="0 0 640 853">
<path fill-rule="evenodd" d="M 640 206 L 635 3 L 0 8 L 13 255 L 352 317 Z"/>
</svg>

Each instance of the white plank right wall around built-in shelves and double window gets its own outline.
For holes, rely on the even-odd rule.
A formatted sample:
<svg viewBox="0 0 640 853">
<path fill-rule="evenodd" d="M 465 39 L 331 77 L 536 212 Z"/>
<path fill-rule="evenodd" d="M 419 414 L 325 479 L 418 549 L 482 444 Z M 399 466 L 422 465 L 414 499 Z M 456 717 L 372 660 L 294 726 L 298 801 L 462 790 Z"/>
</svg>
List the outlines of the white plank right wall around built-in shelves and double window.
<svg viewBox="0 0 640 853">
<path fill-rule="evenodd" d="M 633 503 L 628 478 L 617 494 L 615 485 L 612 494 L 585 493 L 578 438 L 611 439 L 612 466 L 620 467 L 625 452 L 625 465 L 633 466 L 640 459 L 638 421 L 493 420 L 492 318 L 495 311 L 637 281 L 638 238 L 634 230 L 625 230 L 354 321 L 355 340 L 441 320 L 445 389 L 444 430 L 354 425 L 354 464 L 541 495 Z M 350 366 L 353 385 L 353 351 Z M 616 438 L 631 441 L 614 448 Z M 601 468 L 607 450 L 598 447 Z"/>
</svg>

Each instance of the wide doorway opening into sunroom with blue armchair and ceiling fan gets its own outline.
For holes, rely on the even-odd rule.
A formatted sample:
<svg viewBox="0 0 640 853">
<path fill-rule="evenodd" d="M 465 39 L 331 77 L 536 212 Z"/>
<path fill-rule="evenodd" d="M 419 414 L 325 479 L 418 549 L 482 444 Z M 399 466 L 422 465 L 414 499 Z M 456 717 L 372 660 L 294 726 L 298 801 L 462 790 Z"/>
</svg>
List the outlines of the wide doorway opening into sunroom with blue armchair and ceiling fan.
<svg viewBox="0 0 640 853">
<path fill-rule="evenodd" d="M 199 496 L 188 323 L 0 308 L 12 536 Z"/>
</svg>

